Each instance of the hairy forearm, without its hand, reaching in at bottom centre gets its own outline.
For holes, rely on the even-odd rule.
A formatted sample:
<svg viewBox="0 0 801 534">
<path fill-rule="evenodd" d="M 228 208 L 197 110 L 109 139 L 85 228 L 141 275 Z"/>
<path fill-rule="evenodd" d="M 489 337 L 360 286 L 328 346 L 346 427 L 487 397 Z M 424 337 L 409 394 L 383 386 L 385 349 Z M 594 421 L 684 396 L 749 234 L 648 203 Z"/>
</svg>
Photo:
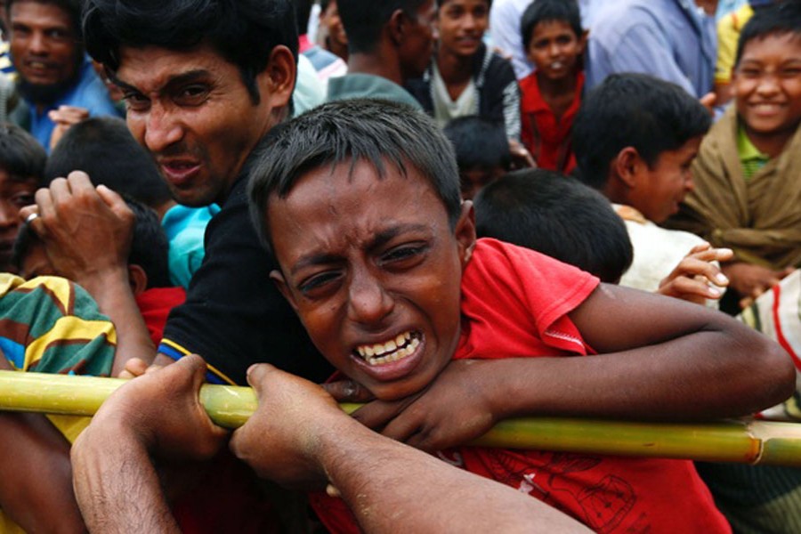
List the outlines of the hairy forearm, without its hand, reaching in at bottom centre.
<svg viewBox="0 0 801 534">
<path fill-rule="evenodd" d="M 320 462 L 364 531 L 589 531 L 535 498 L 353 423 L 320 438 Z"/>
</svg>

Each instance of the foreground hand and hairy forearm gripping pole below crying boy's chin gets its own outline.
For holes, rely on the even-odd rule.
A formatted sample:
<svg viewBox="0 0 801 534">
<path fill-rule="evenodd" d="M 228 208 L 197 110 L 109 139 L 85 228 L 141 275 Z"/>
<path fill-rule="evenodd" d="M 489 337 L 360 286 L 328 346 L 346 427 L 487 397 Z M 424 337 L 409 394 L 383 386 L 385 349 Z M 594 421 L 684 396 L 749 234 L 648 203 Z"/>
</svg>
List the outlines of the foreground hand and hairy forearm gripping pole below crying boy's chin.
<svg viewBox="0 0 801 534">
<path fill-rule="evenodd" d="M 267 364 L 247 380 L 259 408 L 234 433 L 234 453 L 285 485 L 330 481 L 366 532 L 588 531 L 538 499 L 368 430 L 318 385 Z"/>
</svg>

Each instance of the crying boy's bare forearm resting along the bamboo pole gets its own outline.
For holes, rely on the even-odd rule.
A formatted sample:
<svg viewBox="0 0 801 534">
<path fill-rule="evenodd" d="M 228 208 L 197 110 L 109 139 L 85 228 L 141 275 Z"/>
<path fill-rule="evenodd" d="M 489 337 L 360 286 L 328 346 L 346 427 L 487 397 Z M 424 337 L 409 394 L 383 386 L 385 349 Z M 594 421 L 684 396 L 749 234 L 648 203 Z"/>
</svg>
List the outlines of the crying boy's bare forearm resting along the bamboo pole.
<svg viewBox="0 0 801 534">
<path fill-rule="evenodd" d="M 500 417 L 704 420 L 755 413 L 792 393 L 789 379 L 774 379 L 791 376 L 786 355 L 748 350 L 719 332 L 597 356 L 490 363 L 488 390 L 503 384 L 493 401 Z"/>
</svg>

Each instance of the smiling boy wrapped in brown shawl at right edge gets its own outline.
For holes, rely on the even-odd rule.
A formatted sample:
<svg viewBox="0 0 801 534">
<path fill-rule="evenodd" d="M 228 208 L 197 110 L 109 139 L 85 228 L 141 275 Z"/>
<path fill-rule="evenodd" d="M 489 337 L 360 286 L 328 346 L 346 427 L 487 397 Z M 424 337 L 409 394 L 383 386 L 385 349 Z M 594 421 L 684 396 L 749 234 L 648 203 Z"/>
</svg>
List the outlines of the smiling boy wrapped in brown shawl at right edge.
<svg viewBox="0 0 801 534">
<path fill-rule="evenodd" d="M 801 3 L 754 13 L 740 33 L 734 105 L 709 131 L 668 224 L 734 259 L 721 309 L 736 314 L 801 266 Z"/>
</svg>

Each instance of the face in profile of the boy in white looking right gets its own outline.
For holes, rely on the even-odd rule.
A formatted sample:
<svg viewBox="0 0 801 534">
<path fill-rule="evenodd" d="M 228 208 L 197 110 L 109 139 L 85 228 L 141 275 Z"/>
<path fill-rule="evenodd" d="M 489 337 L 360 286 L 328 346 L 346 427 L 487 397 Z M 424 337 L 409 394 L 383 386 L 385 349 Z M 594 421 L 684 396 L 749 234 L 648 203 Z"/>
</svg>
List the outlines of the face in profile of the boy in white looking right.
<svg viewBox="0 0 801 534">
<path fill-rule="evenodd" d="M 636 187 L 627 203 L 654 223 L 664 223 L 670 215 L 678 213 L 679 204 L 693 188 L 690 166 L 698 155 L 702 138 L 693 137 L 677 150 L 662 152 L 651 167 L 642 162 Z"/>
</svg>

